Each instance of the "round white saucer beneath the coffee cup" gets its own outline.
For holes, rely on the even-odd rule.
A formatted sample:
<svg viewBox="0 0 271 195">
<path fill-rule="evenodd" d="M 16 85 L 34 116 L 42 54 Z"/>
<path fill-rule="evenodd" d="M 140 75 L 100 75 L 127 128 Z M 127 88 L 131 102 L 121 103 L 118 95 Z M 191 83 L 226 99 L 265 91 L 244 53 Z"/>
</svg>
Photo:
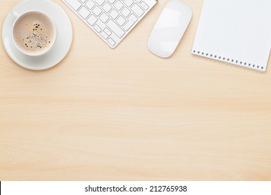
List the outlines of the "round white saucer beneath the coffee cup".
<svg viewBox="0 0 271 195">
<path fill-rule="evenodd" d="M 14 8 L 17 13 L 24 13 L 28 10 L 40 10 L 47 13 L 56 23 L 56 43 L 51 51 L 44 56 L 26 56 L 17 49 L 12 40 L 12 26 L 15 17 L 8 13 L 2 29 L 3 46 L 6 52 L 15 63 L 31 70 L 44 70 L 51 68 L 62 61 L 72 45 L 72 24 L 65 11 L 56 3 L 49 0 L 26 0 Z"/>
</svg>

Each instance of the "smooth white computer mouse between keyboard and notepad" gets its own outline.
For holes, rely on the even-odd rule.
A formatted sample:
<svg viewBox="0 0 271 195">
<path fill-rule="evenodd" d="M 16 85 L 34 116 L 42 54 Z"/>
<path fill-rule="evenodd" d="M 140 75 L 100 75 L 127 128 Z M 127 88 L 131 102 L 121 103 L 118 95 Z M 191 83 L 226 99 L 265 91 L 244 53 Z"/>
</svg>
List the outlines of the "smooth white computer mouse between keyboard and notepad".
<svg viewBox="0 0 271 195">
<path fill-rule="evenodd" d="M 192 18 L 192 10 L 181 1 L 167 3 L 148 40 L 149 50 L 162 58 L 170 57 L 179 45 Z"/>
</svg>

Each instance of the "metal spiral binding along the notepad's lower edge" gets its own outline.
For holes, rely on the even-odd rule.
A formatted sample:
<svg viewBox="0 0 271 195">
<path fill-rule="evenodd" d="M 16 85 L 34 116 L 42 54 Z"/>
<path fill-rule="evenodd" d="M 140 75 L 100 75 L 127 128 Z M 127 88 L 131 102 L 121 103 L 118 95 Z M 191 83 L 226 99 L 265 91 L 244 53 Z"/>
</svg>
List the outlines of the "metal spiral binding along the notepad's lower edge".
<svg viewBox="0 0 271 195">
<path fill-rule="evenodd" d="M 235 65 L 243 65 L 243 66 L 245 65 L 245 66 L 247 66 L 247 68 L 256 68 L 258 70 L 263 70 L 263 66 L 255 65 L 255 64 L 247 63 L 247 62 L 243 62 L 243 61 L 238 61 L 238 60 L 235 60 L 235 59 L 228 59 L 228 58 L 225 58 L 224 56 L 217 56 L 215 54 L 208 54 L 208 53 L 199 52 L 199 51 L 196 51 L 196 50 L 193 50 L 193 54 L 196 54 L 198 56 L 204 56 L 204 57 L 209 58 L 209 59 L 215 59 L 215 60 L 218 60 L 218 61 L 233 63 Z"/>
</svg>

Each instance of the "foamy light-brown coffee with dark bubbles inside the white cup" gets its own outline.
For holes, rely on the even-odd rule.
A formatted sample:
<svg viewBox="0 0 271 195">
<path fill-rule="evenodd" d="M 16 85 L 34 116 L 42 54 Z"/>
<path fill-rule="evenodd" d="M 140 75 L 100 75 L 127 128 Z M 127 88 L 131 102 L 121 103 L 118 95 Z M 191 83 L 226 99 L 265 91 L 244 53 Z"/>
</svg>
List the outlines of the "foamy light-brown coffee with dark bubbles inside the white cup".
<svg viewBox="0 0 271 195">
<path fill-rule="evenodd" d="M 20 17 L 13 29 L 17 47 L 26 54 L 46 52 L 54 44 L 56 29 L 51 19 L 33 11 Z"/>
</svg>

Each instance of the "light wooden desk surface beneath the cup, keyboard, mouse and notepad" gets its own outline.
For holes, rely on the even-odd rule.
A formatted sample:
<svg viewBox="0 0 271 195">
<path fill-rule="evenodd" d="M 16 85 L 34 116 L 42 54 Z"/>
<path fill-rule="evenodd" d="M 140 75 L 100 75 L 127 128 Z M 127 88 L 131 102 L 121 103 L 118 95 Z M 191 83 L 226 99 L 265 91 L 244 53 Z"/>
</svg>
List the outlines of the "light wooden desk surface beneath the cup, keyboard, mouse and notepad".
<svg viewBox="0 0 271 195">
<path fill-rule="evenodd" d="M 147 38 L 159 1 L 110 49 L 61 1 L 74 29 L 55 68 L 16 65 L 0 44 L 0 180 L 271 180 L 267 72 L 190 54 L 202 0 L 176 53 Z M 0 23 L 19 0 L 0 0 Z"/>
</svg>

